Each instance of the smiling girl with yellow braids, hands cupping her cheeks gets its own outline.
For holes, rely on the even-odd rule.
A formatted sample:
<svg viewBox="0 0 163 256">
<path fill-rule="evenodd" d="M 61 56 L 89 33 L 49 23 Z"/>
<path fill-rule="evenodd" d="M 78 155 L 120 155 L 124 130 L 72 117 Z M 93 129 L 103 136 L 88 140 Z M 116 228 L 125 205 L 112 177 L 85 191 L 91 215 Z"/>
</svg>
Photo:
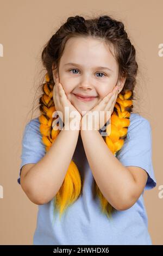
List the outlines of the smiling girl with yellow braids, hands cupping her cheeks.
<svg viewBox="0 0 163 256">
<path fill-rule="evenodd" d="M 24 130 L 18 178 L 39 205 L 34 245 L 152 245 L 143 202 L 156 186 L 151 125 L 131 113 L 138 65 L 123 23 L 69 17 L 42 62 L 41 113 Z M 104 121 L 83 129 L 93 111 Z"/>
</svg>

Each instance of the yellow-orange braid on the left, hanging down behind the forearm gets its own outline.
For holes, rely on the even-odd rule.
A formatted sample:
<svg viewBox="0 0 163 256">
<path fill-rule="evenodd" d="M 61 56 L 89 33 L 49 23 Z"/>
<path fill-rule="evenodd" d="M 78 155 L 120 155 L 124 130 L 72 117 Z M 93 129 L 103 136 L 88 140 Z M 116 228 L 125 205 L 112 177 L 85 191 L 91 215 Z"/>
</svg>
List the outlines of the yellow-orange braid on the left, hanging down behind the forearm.
<svg viewBox="0 0 163 256">
<path fill-rule="evenodd" d="M 53 113 L 56 111 L 53 101 L 53 87 L 49 83 L 48 74 L 46 74 L 46 83 L 43 84 L 43 92 L 40 102 L 41 102 L 41 115 L 39 117 L 40 121 L 40 132 L 42 134 L 42 142 L 46 146 L 46 152 L 51 148 L 55 139 L 57 138 L 60 130 L 54 130 L 53 122 L 57 117 L 53 118 Z M 71 161 L 68 167 L 65 179 L 62 182 L 60 190 L 55 195 L 55 205 L 58 210 L 60 210 L 60 217 L 66 208 L 75 202 L 80 196 L 82 188 L 82 179 L 80 177 L 79 170 L 76 164 Z"/>
</svg>

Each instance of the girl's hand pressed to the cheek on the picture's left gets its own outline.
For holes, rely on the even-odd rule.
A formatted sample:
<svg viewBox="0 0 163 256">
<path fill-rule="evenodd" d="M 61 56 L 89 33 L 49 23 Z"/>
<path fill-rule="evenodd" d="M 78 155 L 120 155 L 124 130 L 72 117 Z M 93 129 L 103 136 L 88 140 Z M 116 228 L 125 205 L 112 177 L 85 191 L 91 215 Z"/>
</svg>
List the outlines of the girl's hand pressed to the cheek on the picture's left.
<svg viewBox="0 0 163 256">
<path fill-rule="evenodd" d="M 77 109 L 67 99 L 65 90 L 62 87 L 62 84 L 59 83 L 58 77 L 55 79 L 55 84 L 54 84 L 54 88 L 53 88 L 53 100 L 54 100 L 54 105 L 55 105 L 56 111 L 60 111 L 62 113 L 62 116 L 61 116 L 60 112 L 58 112 L 58 115 L 60 116 L 62 122 L 65 124 L 65 122 L 68 121 L 68 123 L 70 124 L 70 121 L 73 119 L 73 117 L 70 117 L 70 114 L 73 111 L 73 112 L 76 112 L 76 114 L 73 116 L 74 116 L 74 118 L 77 118 L 77 120 L 79 121 L 79 127 L 80 127 L 80 121 L 82 120 L 82 115 L 77 111 Z M 66 120 L 65 120 L 65 107 L 68 107 L 68 117 L 66 117 Z M 67 111 L 67 109 L 66 109 L 66 111 Z"/>
</svg>

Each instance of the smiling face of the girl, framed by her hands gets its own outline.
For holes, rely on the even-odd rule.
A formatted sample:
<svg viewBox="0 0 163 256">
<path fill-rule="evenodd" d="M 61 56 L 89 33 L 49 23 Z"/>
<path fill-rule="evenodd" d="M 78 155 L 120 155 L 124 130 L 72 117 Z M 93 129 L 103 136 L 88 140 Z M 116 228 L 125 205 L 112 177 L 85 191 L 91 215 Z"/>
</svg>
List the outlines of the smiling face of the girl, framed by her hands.
<svg viewBox="0 0 163 256">
<path fill-rule="evenodd" d="M 66 42 L 61 56 L 58 73 L 53 70 L 53 78 L 65 90 L 68 100 L 82 114 L 95 107 L 112 89 L 125 80 L 118 80 L 118 63 L 104 44 L 104 41 L 92 37 L 70 38 Z M 120 91 L 119 91 L 120 92 Z M 92 100 L 79 99 L 76 95 L 95 96 Z"/>
</svg>

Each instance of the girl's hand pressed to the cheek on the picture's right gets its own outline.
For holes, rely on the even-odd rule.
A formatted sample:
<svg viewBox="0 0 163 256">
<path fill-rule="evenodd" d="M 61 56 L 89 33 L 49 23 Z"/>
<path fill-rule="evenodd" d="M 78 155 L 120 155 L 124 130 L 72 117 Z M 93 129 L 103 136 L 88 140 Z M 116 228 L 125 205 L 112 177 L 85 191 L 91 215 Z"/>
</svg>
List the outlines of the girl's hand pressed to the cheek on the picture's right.
<svg viewBox="0 0 163 256">
<path fill-rule="evenodd" d="M 110 120 L 111 114 L 114 110 L 114 106 L 117 100 L 118 89 L 119 87 L 115 86 L 112 92 L 107 94 L 95 107 L 93 107 L 92 109 L 90 109 L 89 112 L 86 112 L 86 114 L 83 115 L 81 124 L 80 124 L 81 130 L 82 130 L 82 127 L 85 127 L 83 126 L 83 123 L 87 122 L 87 120 L 92 121 L 92 124 L 88 123 L 89 127 L 91 127 L 91 130 L 101 129 L 106 124 L 106 122 Z M 95 117 L 97 114 L 97 118 L 93 118 L 92 112 L 94 111 L 95 111 Z M 106 111 L 110 111 L 110 112 L 107 114 Z M 86 130 L 87 130 L 87 124 L 86 124 Z"/>
</svg>

